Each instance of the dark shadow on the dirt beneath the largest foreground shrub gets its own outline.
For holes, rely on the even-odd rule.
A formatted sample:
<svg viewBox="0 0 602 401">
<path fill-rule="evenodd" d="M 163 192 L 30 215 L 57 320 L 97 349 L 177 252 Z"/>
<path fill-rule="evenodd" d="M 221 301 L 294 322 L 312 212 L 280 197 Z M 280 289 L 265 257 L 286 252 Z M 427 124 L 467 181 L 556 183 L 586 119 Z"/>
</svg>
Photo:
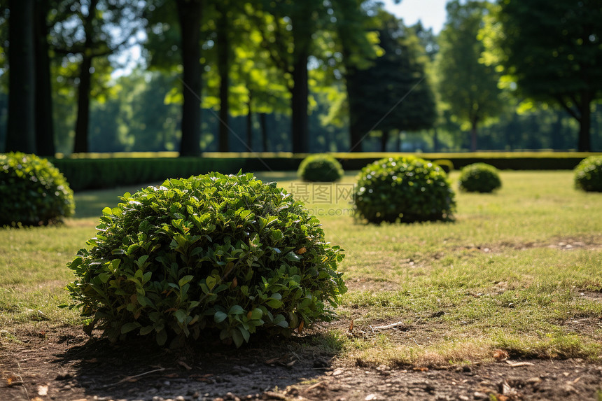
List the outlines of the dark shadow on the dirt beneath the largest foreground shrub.
<svg viewBox="0 0 602 401">
<path fill-rule="evenodd" d="M 71 366 L 68 379 L 88 397 L 188 400 L 232 393 L 242 399 L 320 377 L 330 369 L 339 345 L 335 337 L 323 334 L 252 337 L 240 349 L 200 339 L 174 351 L 161 349 L 150 339 L 118 345 L 90 339 L 56 355 L 55 362 Z"/>
</svg>

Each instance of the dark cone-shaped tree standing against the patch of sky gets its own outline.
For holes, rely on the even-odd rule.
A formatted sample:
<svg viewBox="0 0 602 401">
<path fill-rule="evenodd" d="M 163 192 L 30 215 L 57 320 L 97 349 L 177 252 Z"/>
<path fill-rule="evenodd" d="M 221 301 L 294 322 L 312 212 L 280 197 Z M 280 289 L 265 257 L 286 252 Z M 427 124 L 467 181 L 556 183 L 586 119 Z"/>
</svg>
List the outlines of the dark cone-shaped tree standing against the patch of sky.
<svg viewBox="0 0 602 401">
<path fill-rule="evenodd" d="M 384 55 L 367 69 L 349 69 L 350 125 L 356 132 L 381 132 L 381 151 L 390 132 L 433 126 L 435 98 L 426 80 L 426 55 L 414 34 L 394 15 L 379 10 L 380 47 Z"/>
</svg>

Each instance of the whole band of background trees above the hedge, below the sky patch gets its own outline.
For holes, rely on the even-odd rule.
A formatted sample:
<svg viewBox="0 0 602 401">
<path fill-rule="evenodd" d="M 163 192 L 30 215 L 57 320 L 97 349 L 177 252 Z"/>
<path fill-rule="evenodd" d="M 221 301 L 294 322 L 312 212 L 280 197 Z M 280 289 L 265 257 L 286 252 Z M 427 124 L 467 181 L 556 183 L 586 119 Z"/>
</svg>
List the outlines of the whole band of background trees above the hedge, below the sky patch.
<svg viewBox="0 0 602 401">
<path fill-rule="evenodd" d="M 453 0 L 437 35 L 371 0 L 11 0 L 0 151 L 601 150 L 601 21 L 602 0 Z"/>
</svg>

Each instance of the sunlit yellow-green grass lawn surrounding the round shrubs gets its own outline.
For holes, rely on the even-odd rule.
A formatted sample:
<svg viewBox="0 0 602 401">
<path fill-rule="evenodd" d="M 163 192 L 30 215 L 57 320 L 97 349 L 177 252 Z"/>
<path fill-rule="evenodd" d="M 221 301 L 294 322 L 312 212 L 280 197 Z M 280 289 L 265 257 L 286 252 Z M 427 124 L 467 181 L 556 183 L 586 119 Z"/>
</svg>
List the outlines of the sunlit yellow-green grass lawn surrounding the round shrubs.
<svg viewBox="0 0 602 401">
<path fill-rule="evenodd" d="M 575 190 L 571 171 L 502 171 L 494 194 L 456 191 L 454 223 L 410 225 L 355 221 L 353 174 L 332 185 L 258 176 L 304 199 L 346 250 L 339 321 L 316 329 L 341 360 L 601 358 L 602 194 Z M 102 208 L 137 188 L 76 194 L 76 217 L 62 226 L 0 230 L 0 342 L 80 324 L 57 307 L 69 302 L 65 264 L 94 236 Z"/>
</svg>

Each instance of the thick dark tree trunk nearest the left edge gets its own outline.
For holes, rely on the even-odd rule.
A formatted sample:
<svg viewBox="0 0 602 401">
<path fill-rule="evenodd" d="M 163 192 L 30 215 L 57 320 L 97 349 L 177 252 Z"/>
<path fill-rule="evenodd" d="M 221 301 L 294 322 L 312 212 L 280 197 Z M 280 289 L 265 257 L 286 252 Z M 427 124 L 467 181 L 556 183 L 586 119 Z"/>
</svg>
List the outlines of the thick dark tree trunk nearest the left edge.
<svg viewBox="0 0 602 401">
<path fill-rule="evenodd" d="M 34 0 L 10 1 L 6 151 L 36 153 Z"/>
</svg>

